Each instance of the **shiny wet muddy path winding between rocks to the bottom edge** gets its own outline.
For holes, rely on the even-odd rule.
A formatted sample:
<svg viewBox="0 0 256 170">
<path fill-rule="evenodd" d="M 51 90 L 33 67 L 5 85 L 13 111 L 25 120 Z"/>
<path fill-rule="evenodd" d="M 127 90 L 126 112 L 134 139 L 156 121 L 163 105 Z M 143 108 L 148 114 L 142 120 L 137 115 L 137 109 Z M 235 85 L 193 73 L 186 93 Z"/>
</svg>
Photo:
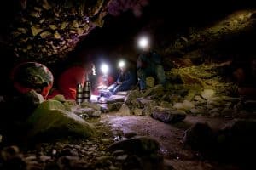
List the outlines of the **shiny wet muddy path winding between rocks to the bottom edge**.
<svg viewBox="0 0 256 170">
<path fill-rule="evenodd" d="M 201 153 L 191 150 L 183 144 L 183 134 L 195 122 L 208 122 L 211 127 L 227 126 L 232 120 L 210 118 L 206 116 L 187 116 L 186 119 L 175 126 L 159 122 L 146 116 L 119 116 L 118 113 L 102 115 L 101 122 L 108 125 L 115 139 L 129 133 L 149 136 L 160 143 L 160 153 L 170 161 L 177 170 L 192 169 L 241 169 L 237 166 L 220 164 L 217 161 L 207 161 Z"/>
</svg>

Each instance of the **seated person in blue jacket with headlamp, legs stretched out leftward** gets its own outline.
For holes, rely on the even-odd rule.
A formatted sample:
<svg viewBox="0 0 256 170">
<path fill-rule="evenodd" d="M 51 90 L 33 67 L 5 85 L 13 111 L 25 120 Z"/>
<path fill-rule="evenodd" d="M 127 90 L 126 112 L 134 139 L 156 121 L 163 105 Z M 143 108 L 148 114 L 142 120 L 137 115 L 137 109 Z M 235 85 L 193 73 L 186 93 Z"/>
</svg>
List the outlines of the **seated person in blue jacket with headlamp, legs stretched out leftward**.
<svg viewBox="0 0 256 170">
<path fill-rule="evenodd" d="M 108 87 L 108 91 L 112 94 L 117 94 L 119 91 L 131 90 L 136 84 L 136 74 L 132 71 L 130 65 L 125 61 L 119 63 L 119 76 L 111 86 Z"/>
</svg>

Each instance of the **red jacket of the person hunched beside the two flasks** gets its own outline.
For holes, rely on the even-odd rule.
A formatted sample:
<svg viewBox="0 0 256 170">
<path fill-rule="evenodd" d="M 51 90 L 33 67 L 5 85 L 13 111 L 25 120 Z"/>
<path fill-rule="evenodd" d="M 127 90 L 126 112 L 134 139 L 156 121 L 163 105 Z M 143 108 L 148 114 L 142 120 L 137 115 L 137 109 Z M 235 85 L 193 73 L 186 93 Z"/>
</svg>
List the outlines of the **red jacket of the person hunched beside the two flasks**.
<svg viewBox="0 0 256 170">
<path fill-rule="evenodd" d="M 76 99 L 76 88 L 78 83 L 82 83 L 86 77 L 85 69 L 82 66 L 73 66 L 64 71 L 58 80 L 58 88 L 60 94 L 65 99 Z"/>
</svg>

